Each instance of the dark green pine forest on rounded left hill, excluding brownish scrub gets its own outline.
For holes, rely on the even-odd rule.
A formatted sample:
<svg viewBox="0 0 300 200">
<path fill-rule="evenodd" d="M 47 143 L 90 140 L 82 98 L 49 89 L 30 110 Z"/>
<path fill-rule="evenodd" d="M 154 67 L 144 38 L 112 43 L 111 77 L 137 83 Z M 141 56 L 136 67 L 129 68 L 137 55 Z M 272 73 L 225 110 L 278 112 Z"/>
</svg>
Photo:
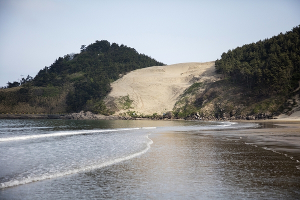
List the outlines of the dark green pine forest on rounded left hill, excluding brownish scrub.
<svg viewBox="0 0 300 200">
<path fill-rule="evenodd" d="M 74 90 L 67 96 L 67 111 L 80 111 L 89 99 L 102 99 L 110 83 L 134 69 L 163 65 L 155 59 L 139 54 L 134 48 L 106 40 L 81 46 L 79 54 L 59 57 L 48 69 L 44 68 L 34 77 L 33 85 L 54 86 L 66 81 L 74 82 Z"/>
</svg>

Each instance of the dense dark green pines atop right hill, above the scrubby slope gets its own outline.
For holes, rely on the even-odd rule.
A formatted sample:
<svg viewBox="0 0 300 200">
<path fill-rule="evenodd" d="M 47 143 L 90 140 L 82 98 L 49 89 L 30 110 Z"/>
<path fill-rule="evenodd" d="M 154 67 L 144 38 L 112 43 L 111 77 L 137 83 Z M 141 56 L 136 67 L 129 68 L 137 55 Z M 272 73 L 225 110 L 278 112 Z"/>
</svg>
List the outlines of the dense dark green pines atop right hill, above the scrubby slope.
<svg viewBox="0 0 300 200">
<path fill-rule="evenodd" d="M 224 78 L 263 95 L 292 91 L 300 80 L 300 27 L 228 50 L 215 68 Z"/>
</svg>

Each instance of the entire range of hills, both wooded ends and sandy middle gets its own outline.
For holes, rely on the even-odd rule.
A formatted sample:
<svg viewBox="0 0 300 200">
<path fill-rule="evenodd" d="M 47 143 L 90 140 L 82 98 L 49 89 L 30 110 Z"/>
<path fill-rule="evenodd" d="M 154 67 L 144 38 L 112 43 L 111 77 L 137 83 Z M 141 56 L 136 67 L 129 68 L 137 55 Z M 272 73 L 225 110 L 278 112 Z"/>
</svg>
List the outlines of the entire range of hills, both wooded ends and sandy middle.
<svg viewBox="0 0 300 200">
<path fill-rule="evenodd" d="M 165 113 L 197 120 L 297 117 L 299 83 L 299 26 L 205 63 L 164 65 L 102 40 L 59 57 L 33 79 L 22 79 L 21 86 L 0 89 L 0 112 Z"/>
</svg>

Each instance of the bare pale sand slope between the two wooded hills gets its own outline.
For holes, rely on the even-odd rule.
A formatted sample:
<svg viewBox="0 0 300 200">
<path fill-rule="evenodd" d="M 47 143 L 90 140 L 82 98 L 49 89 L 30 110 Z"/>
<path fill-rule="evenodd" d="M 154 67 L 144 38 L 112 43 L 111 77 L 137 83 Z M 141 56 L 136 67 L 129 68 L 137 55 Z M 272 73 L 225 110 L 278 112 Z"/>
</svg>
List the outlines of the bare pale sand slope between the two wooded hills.
<svg viewBox="0 0 300 200">
<path fill-rule="evenodd" d="M 108 97 L 129 95 L 138 114 L 172 110 L 178 96 L 194 82 L 215 81 L 214 61 L 151 66 L 131 71 L 111 84 Z M 127 110 L 120 110 L 115 114 Z"/>
</svg>

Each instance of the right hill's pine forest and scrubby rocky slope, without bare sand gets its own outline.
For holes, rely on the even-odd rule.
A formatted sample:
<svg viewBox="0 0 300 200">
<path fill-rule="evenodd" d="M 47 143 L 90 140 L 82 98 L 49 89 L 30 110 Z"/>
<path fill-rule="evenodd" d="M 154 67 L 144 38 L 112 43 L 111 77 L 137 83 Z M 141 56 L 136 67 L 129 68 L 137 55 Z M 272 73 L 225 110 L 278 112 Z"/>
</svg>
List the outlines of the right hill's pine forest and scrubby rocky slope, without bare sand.
<svg viewBox="0 0 300 200">
<path fill-rule="evenodd" d="M 178 116 L 261 119 L 300 110 L 300 27 L 222 53 L 221 80 L 194 83 L 176 102 Z"/>
</svg>

